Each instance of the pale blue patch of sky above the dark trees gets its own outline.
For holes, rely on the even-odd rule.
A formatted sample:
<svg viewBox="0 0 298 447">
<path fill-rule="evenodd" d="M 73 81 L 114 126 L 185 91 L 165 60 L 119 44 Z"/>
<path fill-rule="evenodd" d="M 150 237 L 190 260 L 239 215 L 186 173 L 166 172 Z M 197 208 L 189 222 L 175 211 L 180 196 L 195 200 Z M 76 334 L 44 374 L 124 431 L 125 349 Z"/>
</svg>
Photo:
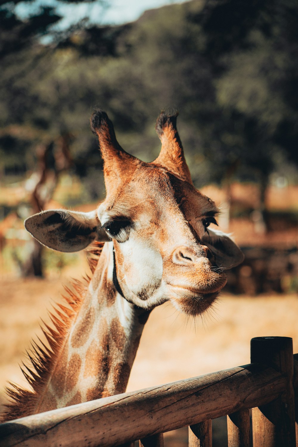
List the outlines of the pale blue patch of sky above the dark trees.
<svg viewBox="0 0 298 447">
<path fill-rule="evenodd" d="M 35 0 L 28 3 L 19 3 L 16 12 L 21 17 L 32 13 L 34 8 L 57 4 L 57 12 L 64 18 L 59 22 L 59 28 L 66 28 L 75 24 L 84 17 L 89 17 L 91 23 L 119 25 L 138 19 L 144 11 L 159 8 L 167 4 L 183 3 L 186 0 L 106 0 L 108 6 L 102 3 L 105 0 L 95 2 L 82 2 L 81 4 L 63 4 L 56 0 Z"/>
</svg>

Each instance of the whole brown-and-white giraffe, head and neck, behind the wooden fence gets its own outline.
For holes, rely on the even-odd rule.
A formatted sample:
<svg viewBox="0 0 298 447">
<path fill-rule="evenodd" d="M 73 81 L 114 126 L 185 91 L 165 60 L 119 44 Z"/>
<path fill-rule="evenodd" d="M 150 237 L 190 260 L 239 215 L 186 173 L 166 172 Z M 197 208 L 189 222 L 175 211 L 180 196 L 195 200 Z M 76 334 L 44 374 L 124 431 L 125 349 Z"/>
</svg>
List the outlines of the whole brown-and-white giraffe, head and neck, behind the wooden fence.
<svg viewBox="0 0 298 447">
<path fill-rule="evenodd" d="M 45 325 L 49 346 L 33 345 L 32 367 L 23 371 L 33 391 L 10 388 L 4 419 L 125 392 L 151 310 L 170 301 L 190 316 L 205 312 L 227 282 L 225 270 L 243 260 L 228 235 L 208 228 L 218 209 L 193 186 L 176 117 L 159 115 L 161 150 L 145 163 L 121 148 L 107 114 L 95 110 L 105 200 L 88 213 L 47 210 L 25 220 L 43 245 L 90 246 L 97 262 L 91 280 L 75 282 L 68 306 L 52 314 L 55 329 Z"/>
</svg>

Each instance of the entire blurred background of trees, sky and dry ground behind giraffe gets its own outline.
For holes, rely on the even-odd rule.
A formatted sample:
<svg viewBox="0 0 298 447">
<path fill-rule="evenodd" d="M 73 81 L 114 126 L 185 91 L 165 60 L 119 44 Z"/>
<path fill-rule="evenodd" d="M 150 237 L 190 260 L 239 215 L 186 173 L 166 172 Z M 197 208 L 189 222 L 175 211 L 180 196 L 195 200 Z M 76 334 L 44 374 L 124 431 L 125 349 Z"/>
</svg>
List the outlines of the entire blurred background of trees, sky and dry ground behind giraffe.
<svg viewBox="0 0 298 447">
<path fill-rule="evenodd" d="M 0 1 L 1 402 L 5 380 L 24 384 L 39 317 L 88 273 L 84 253 L 44 249 L 23 220 L 104 198 L 95 105 L 145 161 L 160 110 L 178 109 L 194 185 L 245 253 L 213 313 L 152 312 L 129 390 L 249 363 L 254 336 L 298 352 L 297 23 L 292 0 Z"/>
</svg>

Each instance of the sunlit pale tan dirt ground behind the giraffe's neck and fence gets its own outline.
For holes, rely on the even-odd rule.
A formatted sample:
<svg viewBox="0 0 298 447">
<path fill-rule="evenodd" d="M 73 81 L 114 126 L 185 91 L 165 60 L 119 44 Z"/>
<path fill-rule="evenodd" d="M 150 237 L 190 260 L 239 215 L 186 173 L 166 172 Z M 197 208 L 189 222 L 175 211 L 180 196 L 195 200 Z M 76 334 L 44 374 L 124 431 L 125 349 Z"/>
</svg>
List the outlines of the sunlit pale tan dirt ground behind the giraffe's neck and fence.
<svg viewBox="0 0 298 447">
<path fill-rule="evenodd" d="M 59 300 L 64 277 L 0 279 L 0 402 L 7 380 L 25 385 L 18 363 L 31 338 L 41 336 L 40 318 Z M 202 318 L 187 320 L 171 304 L 156 308 L 145 326 L 128 391 L 164 384 L 250 362 L 250 339 L 293 337 L 298 352 L 298 296 L 222 294 Z M 36 335 L 35 335 L 36 334 Z M 165 445 L 187 445 L 187 431 L 170 432 Z M 215 445 L 215 444 L 214 444 Z"/>
</svg>

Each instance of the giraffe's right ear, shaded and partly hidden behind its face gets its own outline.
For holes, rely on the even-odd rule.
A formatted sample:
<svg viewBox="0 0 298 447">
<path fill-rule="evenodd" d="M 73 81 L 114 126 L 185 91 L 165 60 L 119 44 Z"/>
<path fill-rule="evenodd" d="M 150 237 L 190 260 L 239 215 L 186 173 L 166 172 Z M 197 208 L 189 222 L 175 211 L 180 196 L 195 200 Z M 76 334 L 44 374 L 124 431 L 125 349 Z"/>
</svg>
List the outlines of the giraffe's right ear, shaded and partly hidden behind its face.
<svg viewBox="0 0 298 447">
<path fill-rule="evenodd" d="M 208 232 L 204 234 L 201 242 L 214 254 L 218 267 L 231 269 L 241 264 L 244 259 L 244 254 L 238 245 L 231 240 L 228 234 L 219 230 L 208 228 Z"/>
</svg>

